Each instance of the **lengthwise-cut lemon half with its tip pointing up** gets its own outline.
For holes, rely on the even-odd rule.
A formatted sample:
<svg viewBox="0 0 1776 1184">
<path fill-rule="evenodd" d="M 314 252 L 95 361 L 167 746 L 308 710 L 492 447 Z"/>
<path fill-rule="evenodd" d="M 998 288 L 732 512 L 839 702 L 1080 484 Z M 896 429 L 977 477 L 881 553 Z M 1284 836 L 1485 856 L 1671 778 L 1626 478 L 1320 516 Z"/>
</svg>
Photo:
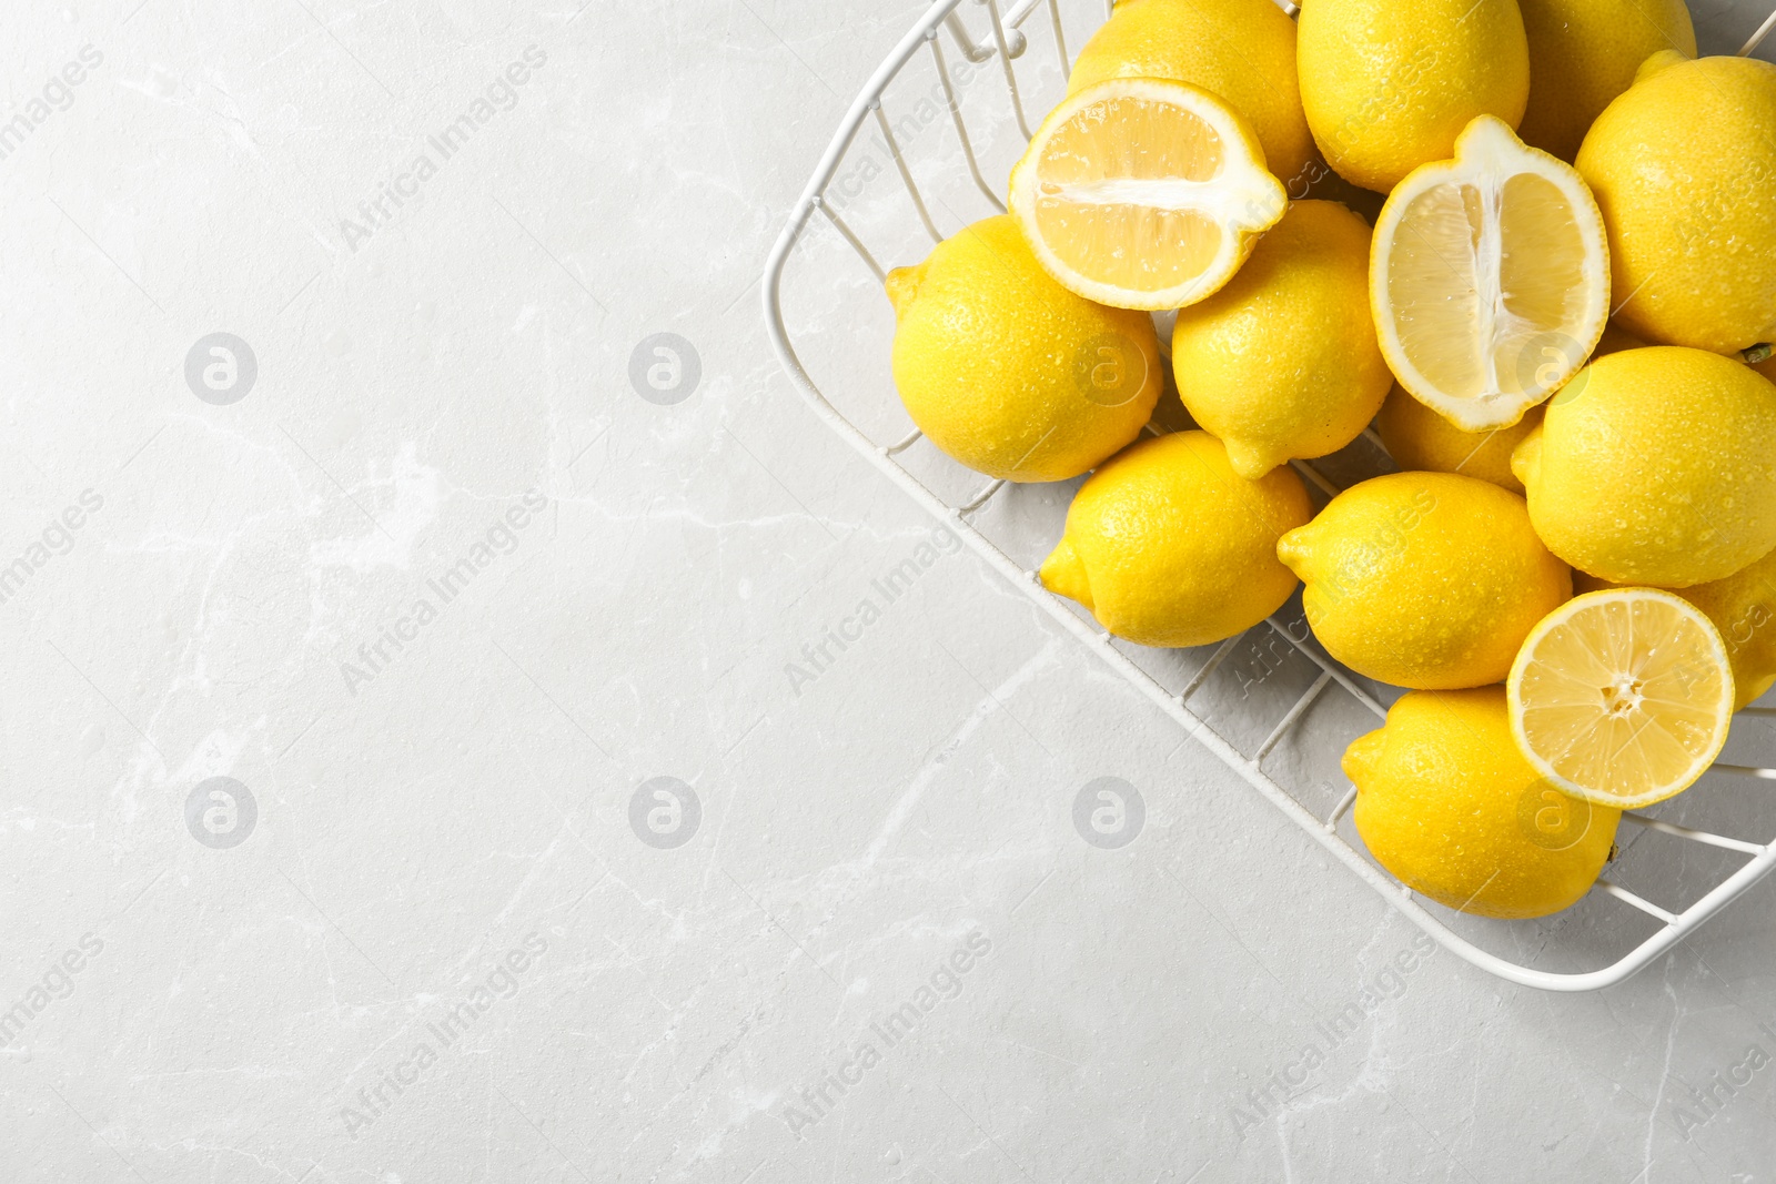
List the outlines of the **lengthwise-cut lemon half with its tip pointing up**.
<svg viewBox="0 0 1776 1184">
<path fill-rule="evenodd" d="M 1579 172 L 1474 119 L 1455 160 L 1389 195 L 1369 249 L 1382 355 L 1463 431 L 1510 428 L 1597 348 L 1609 320 L 1604 215 Z"/>
</svg>

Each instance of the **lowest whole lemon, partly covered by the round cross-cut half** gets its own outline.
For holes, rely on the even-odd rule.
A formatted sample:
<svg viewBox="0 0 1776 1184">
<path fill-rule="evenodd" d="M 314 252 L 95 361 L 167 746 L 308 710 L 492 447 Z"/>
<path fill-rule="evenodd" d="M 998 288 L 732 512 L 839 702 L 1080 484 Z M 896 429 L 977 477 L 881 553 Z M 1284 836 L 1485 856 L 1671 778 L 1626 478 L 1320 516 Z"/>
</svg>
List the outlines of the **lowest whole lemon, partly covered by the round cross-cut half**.
<svg viewBox="0 0 1776 1184">
<path fill-rule="evenodd" d="M 1501 687 L 1410 691 L 1344 749 L 1352 822 L 1376 861 L 1437 904 L 1533 918 L 1575 904 L 1621 811 L 1568 797 L 1511 744 Z"/>
</svg>

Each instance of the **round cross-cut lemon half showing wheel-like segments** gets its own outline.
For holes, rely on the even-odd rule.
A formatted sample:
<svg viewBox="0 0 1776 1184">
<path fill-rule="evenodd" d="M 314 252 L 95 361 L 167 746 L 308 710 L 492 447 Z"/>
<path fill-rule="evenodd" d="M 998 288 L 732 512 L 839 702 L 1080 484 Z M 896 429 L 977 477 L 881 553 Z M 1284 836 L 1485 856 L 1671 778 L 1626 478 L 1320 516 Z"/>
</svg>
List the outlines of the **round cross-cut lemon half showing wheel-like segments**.
<svg viewBox="0 0 1776 1184">
<path fill-rule="evenodd" d="M 1549 612 L 1504 691 L 1511 735 L 1536 772 L 1621 809 L 1687 790 L 1733 715 L 1719 630 L 1652 588 L 1586 593 Z"/>
</svg>

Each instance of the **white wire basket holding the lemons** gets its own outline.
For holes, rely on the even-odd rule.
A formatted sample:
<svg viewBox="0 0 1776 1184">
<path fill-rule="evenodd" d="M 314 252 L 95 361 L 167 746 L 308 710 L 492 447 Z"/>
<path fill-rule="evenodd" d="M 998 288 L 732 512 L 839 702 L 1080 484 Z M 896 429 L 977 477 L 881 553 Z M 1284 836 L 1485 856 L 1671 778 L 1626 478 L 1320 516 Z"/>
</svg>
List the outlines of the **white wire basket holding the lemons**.
<svg viewBox="0 0 1776 1184">
<path fill-rule="evenodd" d="M 893 314 L 879 254 L 916 263 L 945 238 L 940 222 L 954 234 L 1003 213 L 1002 186 L 987 178 L 1003 179 L 1023 153 L 1046 110 L 1032 103 L 1060 98 L 1067 46 L 1083 44 L 1110 0 L 970 0 L 966 20 L 963 5 L 932 4 L 876 69 L 765 264 L 765 325 L 815 414 L 1389 907 L 1483 971 L 1545 991 L 1618 983 L 1776 868 L 1776 838 L 1732 836 L 1776 829 L 1776 808 L 1756 783 L 1776 770 L 1723 762 L 1652 813 L 1623 815 L 1604 877 L 1554 918 L 1487 921 L 1421 902 L 1362 849 L 1348 818 L 1357 790 L 1337 772 L 1337 756 L 1398 691 L 1327 657 L 1300 620 L 1298 595 L 1218 646 L 1144 650 L 1043 589 L 1034 568 L 1060 536 L 1073 485 L 980 485 L 911 426 L 888 373 Z M 1740 53 L 1772 27 L 1776 12 Z M 1162 348 L 1167 341 L 1162 332 Z M 1183 414 L 1170 391 L 1158 415 L 1169 414 Z M 1391 467 L 1369 431 L 1343 453 L 1295 463 L 1325 497 Z M 1756 715 L 1776 708 L 1746 708 L 1730 753 L 1762 738 L 1742 735 Z"/>
</svg>

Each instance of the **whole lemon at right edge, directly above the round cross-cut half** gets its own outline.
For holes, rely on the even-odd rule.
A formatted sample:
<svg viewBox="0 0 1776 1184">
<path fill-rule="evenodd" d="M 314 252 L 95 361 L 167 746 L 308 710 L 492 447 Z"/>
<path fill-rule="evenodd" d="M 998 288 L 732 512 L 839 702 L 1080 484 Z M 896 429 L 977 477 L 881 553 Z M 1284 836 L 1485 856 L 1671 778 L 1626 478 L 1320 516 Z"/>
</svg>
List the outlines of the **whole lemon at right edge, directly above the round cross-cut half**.
<svg viewBox="0 0 1776 1184">
<path fill-rule="evenodd" d="M 1549 549 L 1616 584 L 1689 588 L 1776 547 L 1776 387 L 1680 346 L 1597 359 L 1511 454 Z"/>
</svg>

